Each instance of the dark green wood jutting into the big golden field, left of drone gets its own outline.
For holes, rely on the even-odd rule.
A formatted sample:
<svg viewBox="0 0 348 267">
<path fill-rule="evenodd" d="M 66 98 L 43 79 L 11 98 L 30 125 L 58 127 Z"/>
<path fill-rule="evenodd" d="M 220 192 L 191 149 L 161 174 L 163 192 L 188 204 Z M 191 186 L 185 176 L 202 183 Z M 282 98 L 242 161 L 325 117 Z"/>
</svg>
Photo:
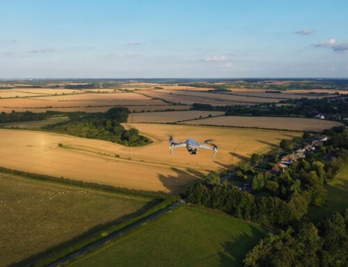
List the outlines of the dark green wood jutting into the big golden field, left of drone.
<svg viewBox="0 0 348 267">
<path fill-rule="evenodd" d="M 106 113 L 71 113 L 70 120 L 43 127 L 50 130 L 78 137 L 102 139 L 125 146 L 143 146 L 151 140 L 139 135 L 139 131 L 131 128 L 125 130 L 120 123 L 127 122 L 129 110 L 126 107 L 113 107 Z"/>
</svg>

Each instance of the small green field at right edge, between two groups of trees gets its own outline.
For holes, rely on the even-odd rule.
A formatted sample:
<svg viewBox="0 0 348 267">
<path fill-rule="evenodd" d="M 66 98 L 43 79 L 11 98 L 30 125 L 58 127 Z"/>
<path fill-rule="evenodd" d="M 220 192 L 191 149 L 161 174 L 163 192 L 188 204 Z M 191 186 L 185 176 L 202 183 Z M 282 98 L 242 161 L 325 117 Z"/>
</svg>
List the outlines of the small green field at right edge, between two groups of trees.
<svg viewBox="0 0 348 267">
<path fill-rule="evenodd" d="M 326 185 L 328 200 L 324 206 L 311 206 L 308 218 L 311 222 L 319 222 L 333 211 L 341 213 L 348 208 L 348 165 L 335 176 L 332 183 Z"/>
</svg>

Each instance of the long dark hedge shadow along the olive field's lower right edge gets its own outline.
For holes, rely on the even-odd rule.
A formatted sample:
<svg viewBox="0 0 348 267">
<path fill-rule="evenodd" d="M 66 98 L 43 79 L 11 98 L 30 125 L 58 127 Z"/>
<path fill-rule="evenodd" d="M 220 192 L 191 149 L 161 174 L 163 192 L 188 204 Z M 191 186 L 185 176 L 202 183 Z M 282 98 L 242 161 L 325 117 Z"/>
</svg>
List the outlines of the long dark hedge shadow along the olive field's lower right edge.
<svg viewBox="0 0 348 267">
<path fill-rule="evenodd" d="M 34 266 L 34 262 L 38 261 L 39 259 L 43 259 L 45 257 L 48 257 L 51 254 L 54 254 L 60 250 L 64 250 L 66 247 L 70 247 L 84 239 L 89 238 L 90 236 L 97 234 L 100 231 L 103 231 L 107 229 L 108 227 L 111 227 L 115 224 L 120 224 L 121 222 L 125 222 L 126 220 L 129 220 L 131 218 L 134 218 L 138 215 L 141 215 L 142 213 L 145 213 L 145 211 L 148 211 L 149 208 L 152 208 L 156 204 L 158 204 L 158 200 L 152 200 L 149 201 L 145 206 L 140 208 L 138 211 L 128 214 L 128 215 L 123 215 L 120 218 L 117 218 L 116 220 L 112 220 L 110 222 L 106 222 L 104 224 L 97 224 L 94 227 L 88 229 L 82 234 L 79 234 L 78 236 L 75 236 L 74 238 L 64 241 L 62 243 L 59 243 L 58 245 L 52 245 L 51 247 L 48 247 L 46 250 L 43 250 L 41 252 L 37 252 L 29 257 L 26 257 L 25 259 L 22 259 L 21 261 L 17 261 L 13 264 L 10 264 L 9 267 L 19 267 L 19 266 Z M 68 211 L 67 211 L 68 212 Z"/>
</svg>

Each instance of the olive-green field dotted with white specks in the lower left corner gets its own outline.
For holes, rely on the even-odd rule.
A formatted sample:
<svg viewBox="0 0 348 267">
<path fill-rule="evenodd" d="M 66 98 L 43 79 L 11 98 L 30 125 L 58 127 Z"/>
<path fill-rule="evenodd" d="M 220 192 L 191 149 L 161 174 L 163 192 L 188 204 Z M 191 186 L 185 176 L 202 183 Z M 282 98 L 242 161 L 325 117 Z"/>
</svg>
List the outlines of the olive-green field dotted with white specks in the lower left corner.
<svg viewBox="0 0 348 267">
<path fill-rule="evenodd" d="M 0 266 L 143 213 L 154 201 L 0 172 Z M 157 202 L 156 202 L 157 203 Z"/>
</svg>

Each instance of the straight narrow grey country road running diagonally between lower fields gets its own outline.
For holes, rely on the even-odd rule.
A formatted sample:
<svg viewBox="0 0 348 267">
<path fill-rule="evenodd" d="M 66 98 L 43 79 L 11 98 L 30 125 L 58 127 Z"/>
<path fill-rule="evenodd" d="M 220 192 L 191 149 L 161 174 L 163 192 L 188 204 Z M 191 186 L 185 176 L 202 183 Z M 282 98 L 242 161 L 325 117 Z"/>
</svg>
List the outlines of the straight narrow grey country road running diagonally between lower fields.
<svg viewBox="0 0 348 267">
<path fill-rule="evenodd" d="M 159 218 L 159 216 L 164 215 L 164 213 L 167 213 L 168 211 L 173 210 L 173 208 L 177 208 L 178 206 L 181 206 L 183 204 L 186 204 L 186 201 L 184 199 L 175 202 L 174 204 L 172 204 L 171 206 L 168 206 L 164 209 L 162 209 L 161 211 L 157 211 L 156 213 L 153 213 L 151 215 L 149 215 L 146 218 L 143 218 L 137 222 L 134 222 L 134 224 L 130 224 L 129 226 L 120 229 L 120 231 L 117 231 L 114 234 L 111 234 L 110 236 L 106 236 L 105 238 L 102 238 L 100 241 L 97 241 L 95 243 L 92 243 L 86 247 L 81 248 L 81 250 L 77 250 L 76 252 L 73 252 L 72 254 L 69 254 L 66 257 L 63 257 L 61 259 L 59 259 L 58 261 L 55 261 L 52 264 L 49 264 L 49 267 L 58 267 L 61 266 L 62 264 L 65 264 L 67 261 L 70 261 L 76 257 L 81 256 L 82 254 L 89 252 L 90 250 L 95 250 L 97 247 L 100 247 L 102 245 L 104 245 L 106 242 L 111 241 L 115 238 L 118 238 L 119 236 L 122 236 L 123 234 L 127 234 L 127 232 L 132 231 L 133 229 L 136 229 L 137 227 L 141 227 L 142 224 L 144 224 L 145 222 L 150 222 L 151 220 L 154 220 L 156 218 Z"/>
</svg>

